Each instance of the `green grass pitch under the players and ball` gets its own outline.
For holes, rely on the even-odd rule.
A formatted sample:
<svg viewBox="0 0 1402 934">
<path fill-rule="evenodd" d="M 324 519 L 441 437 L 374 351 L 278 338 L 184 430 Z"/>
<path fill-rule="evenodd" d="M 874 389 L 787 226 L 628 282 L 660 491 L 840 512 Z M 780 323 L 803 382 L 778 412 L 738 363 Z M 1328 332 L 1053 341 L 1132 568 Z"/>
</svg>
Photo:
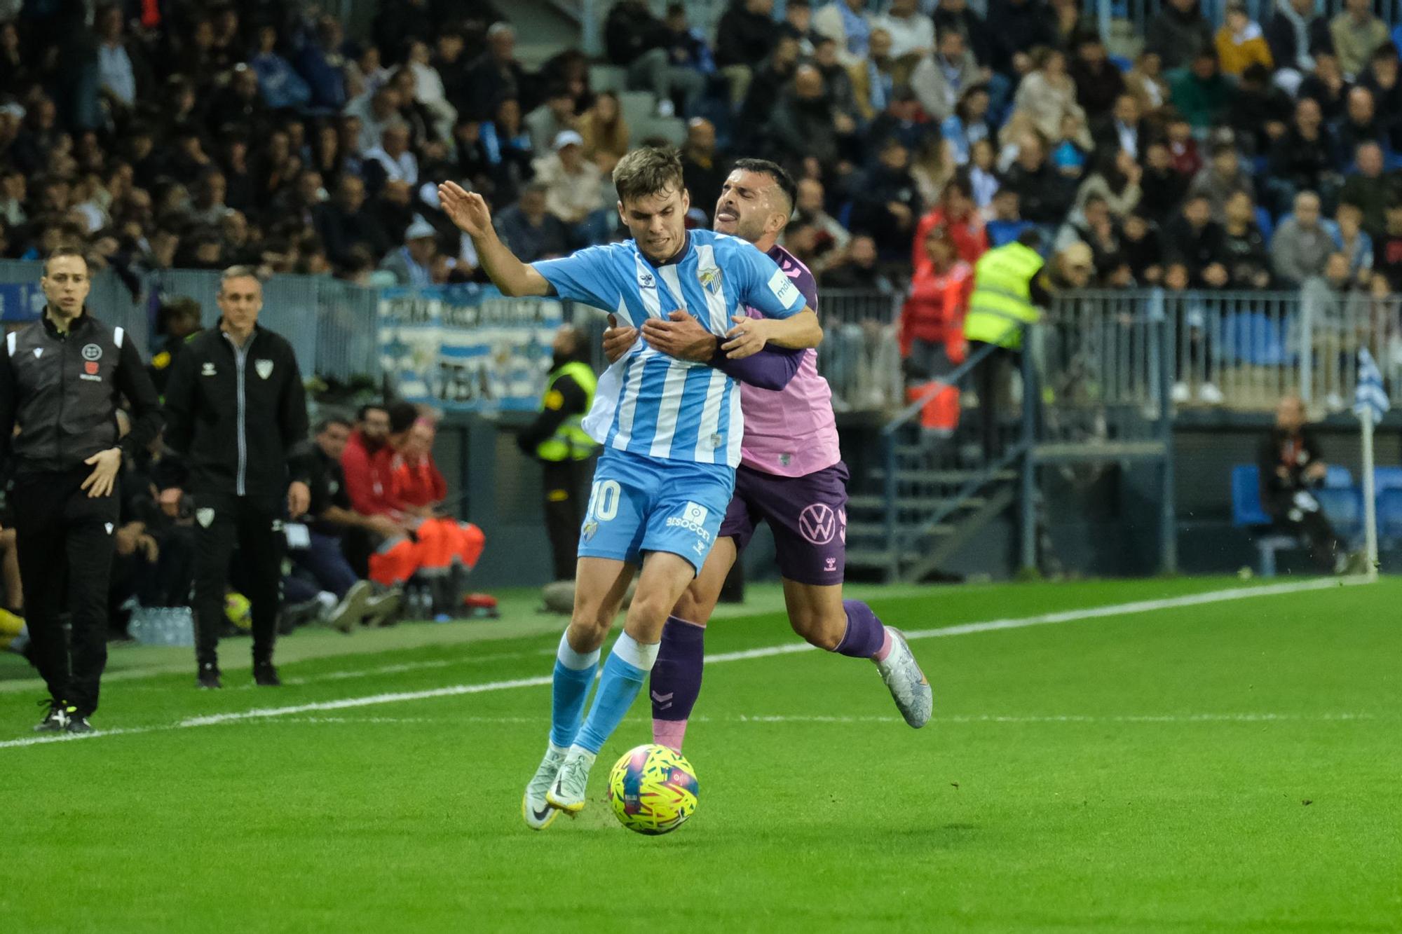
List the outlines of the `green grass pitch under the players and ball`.
<svg viewBox="0 0 1402 934">
<path fill-rule="evenodd" d="M 1239 586 L 855 590 L 920 631 Z M 1399 931 L 1399 603 L 1384 581 L 927 635 L 921 731 L 869 662 L 718 662 L 701 804 L 665 837 L 601 801 L 645 698 L 586 811 L 522 823 L 550 689 L 512 682 L 548 675 L 562 625 L 524 595 L 492 623 L 299 632 L 278 690 L 247 641 L 220 693 L 189 649 L 115 648 L 108 732 L 53 743 L 4 656 L 0 931 Z M 791 641 L 756 589 L 708 652 Z"/>
</svg>

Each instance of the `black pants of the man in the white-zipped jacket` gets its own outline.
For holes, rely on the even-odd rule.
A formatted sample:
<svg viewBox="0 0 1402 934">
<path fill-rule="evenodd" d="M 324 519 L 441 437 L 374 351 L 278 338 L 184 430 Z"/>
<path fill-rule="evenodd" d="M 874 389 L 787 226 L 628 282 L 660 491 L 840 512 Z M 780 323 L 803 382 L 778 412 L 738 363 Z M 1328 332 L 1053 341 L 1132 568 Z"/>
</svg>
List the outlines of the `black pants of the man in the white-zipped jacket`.
<svg viewBox="0 0 1402 934">
<path fill-rule="evenodd" d="M 219 634 L 224 628 L 229 561 L 238 546 L 252 603 L 254 663 L 272 661 L 282 600 L 282 499 L 195 494 L 195 658 L 219 663 Z"/>
</svg>

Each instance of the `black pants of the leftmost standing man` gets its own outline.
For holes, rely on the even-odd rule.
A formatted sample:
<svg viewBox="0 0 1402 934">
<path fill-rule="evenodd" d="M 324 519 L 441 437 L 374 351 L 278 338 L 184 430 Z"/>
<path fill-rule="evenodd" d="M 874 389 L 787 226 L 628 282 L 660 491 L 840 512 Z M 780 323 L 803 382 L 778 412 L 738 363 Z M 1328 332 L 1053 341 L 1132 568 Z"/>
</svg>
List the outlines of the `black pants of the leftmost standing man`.
<svg viewBox="0 0 1402 934">
<path fill-rule="evenodd" d="M 11 494 L 31 658 L 49 694 L 84 717 L 97 710 L 107 666 L 107 590 L 121 506 L 119 485 L 97 498 L 80 489 L 91 473 L 81 466 L 20 474 Z M 59 624 L 64 609 L 72 648 Z"/>
</svg>

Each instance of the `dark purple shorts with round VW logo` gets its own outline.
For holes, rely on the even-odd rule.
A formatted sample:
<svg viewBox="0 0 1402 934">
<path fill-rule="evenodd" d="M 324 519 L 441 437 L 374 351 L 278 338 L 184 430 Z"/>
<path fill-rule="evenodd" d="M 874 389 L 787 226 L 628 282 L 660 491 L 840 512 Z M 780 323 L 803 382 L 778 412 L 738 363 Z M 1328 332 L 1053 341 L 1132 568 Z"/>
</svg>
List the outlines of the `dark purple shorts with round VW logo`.
<svg viewBox="0 0 1402 934">
<path fill-rule="evenodd" d="M 780 574 L 796 583 L 841 583 L 847 568 L 847 464 L 806 477 L 775 477 L 740 466 L 721 534 L 744 551 L 760 520 L 774 530 Z"/>
</svg>

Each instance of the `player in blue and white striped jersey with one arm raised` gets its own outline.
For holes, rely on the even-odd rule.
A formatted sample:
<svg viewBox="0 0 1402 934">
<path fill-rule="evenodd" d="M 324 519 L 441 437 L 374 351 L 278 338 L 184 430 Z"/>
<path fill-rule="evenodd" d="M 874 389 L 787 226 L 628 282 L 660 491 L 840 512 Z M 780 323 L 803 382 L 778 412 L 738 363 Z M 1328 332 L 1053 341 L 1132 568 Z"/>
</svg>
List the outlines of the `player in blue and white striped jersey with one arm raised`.
<svg viewBox="0 0 1402 934">
<path fill-rule="evenodd" d="M 817 346 L 817 316 L 770 257 L 736 237 L 686 230 L 690 198 L 674 151 L 635 150 L 613 178 L 618 215 L 634 238 L 530 265 L 496 237 L 478 195 L 453 182 L 439 195 L 505 295 L 573 299 L 638 328 L 681 310 L 732 359 L 765 345 Z M 765 317 L 747 317 L 746 307 Z M 559 811 L 585 806 L 594 757 L 638 696 L 667 614 L 716 539 L 744 424 L 739 387 L 725 369 L 638 341 L 600 379 L 585 428 L 604 450 L 580 529 L 575 610 L 555 658 L 550 745 L 522 801 L 526 823 L 537 830 Z M 583 718 L 600 647 L 639 567 L 624 631 Z"/>
</svg>

